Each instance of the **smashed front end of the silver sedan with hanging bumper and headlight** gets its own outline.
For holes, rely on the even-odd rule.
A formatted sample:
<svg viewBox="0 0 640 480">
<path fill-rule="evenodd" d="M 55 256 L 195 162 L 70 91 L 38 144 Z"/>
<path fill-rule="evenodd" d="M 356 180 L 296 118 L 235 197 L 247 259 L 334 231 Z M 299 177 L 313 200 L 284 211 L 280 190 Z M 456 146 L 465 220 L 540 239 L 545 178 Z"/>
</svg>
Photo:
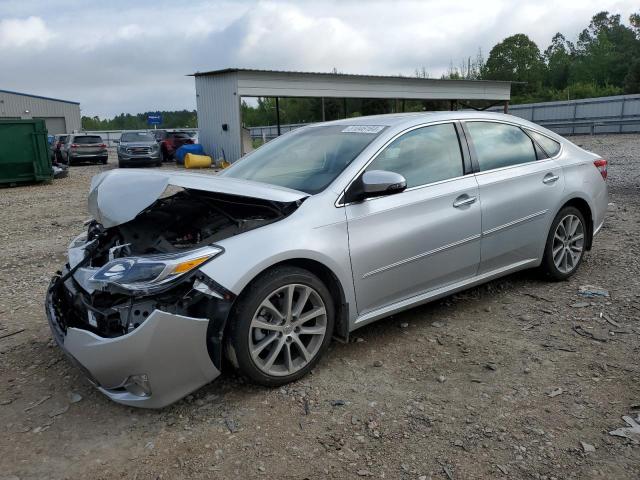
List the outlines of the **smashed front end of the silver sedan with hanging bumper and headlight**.
<svg viewBox="0 0 640 480">
<path fill-rule="evenodd" d="M 107 226 L 88 223 L 47 293 L 54 338 L 89 379 L 116 402 L 151 408 L 220 374 L 235 295 L 200 270 L 224 255 L 216 242 L 299 205 L 164 183 L 150 203 L 148 195 L 135 201 L 124 193 L 122 201 L 131 201 L 118 210 L 99 206 L 101 193 L 113 201 L 114 184 L 94 182 L 92 213 Z"/>
</svg>

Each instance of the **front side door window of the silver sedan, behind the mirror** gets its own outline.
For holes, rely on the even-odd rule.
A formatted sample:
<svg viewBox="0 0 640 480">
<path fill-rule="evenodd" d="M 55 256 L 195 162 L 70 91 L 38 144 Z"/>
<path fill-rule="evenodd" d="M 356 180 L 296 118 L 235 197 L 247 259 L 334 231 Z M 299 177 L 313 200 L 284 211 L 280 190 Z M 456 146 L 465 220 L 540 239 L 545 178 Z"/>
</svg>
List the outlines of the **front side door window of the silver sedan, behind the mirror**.
<svg viewBox="0 0 640 480">
<path fill-rule="evenodd" d="M 453 123 L 417 128 L 394 140 L 367 167 L 399 173 L 407 187 L 464 175 L 460 142 Z"/>
</svg>

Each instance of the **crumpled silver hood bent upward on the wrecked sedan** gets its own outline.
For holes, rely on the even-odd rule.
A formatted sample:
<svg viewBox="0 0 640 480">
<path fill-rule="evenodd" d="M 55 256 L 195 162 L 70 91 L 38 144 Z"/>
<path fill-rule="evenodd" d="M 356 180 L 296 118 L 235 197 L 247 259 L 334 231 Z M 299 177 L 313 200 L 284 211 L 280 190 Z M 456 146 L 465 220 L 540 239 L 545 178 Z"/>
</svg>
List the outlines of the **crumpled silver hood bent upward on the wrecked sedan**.
<svg viewBox="0 0 640 480">
<path fill-rule="evenodd" d="M 309 196 L 298 190 L 231 177 L 170 171 L 110 170 L 91 180 L 89 212 L 104 227 L 115 227 L 133 220 L 170 185 L 282 203 Z"/>
</svg>

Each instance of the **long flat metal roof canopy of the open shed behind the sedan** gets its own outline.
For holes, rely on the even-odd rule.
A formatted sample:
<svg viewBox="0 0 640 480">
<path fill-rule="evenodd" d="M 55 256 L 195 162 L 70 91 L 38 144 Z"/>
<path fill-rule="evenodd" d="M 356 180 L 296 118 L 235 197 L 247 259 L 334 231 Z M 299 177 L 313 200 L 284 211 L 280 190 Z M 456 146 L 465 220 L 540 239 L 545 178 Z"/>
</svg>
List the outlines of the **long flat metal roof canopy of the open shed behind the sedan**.
<svg viewBox="0 0 640 480">
<path fill-rule="evenodd" d="M 416 100 L 509 100 L 511 82 L 440 80 L 342 73 L 229 68 L 194 76 L 236 73 L 241 97 L 397 98 Z"/>
</svg>

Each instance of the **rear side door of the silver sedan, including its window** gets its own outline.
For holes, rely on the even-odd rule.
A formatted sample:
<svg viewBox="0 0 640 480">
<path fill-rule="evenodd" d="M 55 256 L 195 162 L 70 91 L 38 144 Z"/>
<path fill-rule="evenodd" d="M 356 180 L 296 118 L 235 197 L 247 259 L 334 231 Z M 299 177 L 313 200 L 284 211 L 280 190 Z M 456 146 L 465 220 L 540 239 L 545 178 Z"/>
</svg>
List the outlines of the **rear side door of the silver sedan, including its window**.
<svg viewBox="0 0 640 480">
<path fill-rule="evenodd" d="M 479 274 L 535 264 L 564 189 L 562 168 L 517 125 L 464 122 L 482 206 Z"/>
</svg>

